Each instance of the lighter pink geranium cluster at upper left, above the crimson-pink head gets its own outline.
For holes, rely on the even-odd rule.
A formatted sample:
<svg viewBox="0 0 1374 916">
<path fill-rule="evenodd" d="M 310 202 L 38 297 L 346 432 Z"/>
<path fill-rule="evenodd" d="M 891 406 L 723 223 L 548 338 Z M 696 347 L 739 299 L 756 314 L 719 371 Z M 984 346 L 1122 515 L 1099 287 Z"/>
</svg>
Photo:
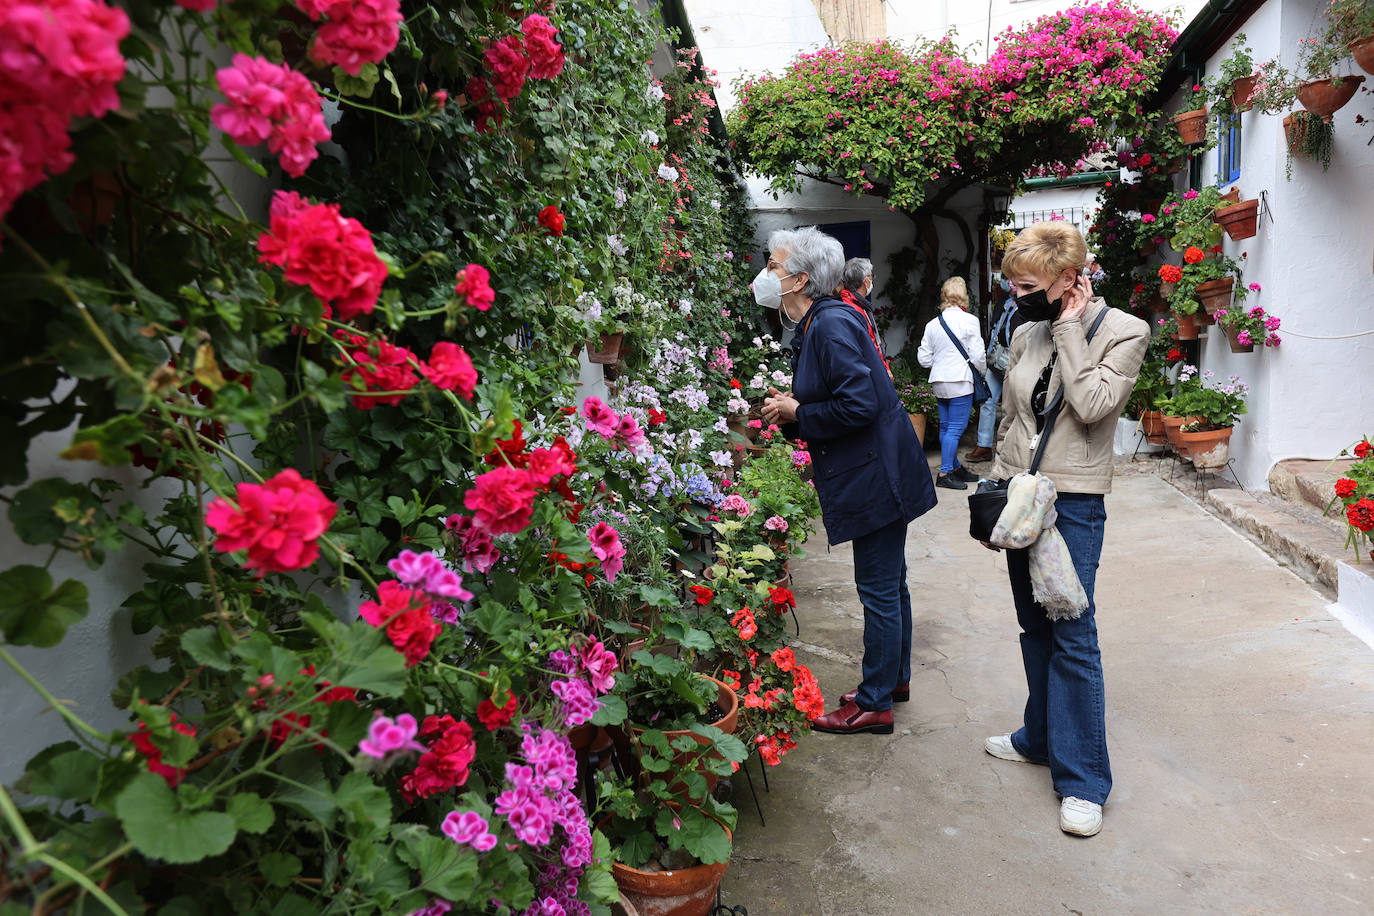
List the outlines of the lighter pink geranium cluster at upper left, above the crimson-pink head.
<svg viewBox="0 0 1374 916">
<path fill-rule="evenodd" d="M 234 55 L 231 66 L 214 74 L 228 102 L 210 110 L 210 121 L 242 146 L 267 141 L 294 177 L 319 155 L 316 144 L 330 139 L 315 84 L 284 63 Z"/>
</svg>

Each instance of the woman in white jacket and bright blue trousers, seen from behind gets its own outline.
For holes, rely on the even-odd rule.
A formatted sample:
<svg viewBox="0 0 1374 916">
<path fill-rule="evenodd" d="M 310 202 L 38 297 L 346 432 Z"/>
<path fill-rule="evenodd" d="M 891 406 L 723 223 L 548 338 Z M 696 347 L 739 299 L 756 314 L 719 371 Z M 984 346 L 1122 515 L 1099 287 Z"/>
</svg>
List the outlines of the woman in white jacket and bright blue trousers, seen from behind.
<svg viewBox="0 0 1374 916">
<path fill-rule="evenodd" d="M 949 277 L 940 287 L 940 317 L 926 324 L 916 360 L 930 369 L 930 387 L 940 402 L 940 477 L 936 486 L 966 490 L 978 475 L 959 464 L 959 437 L 969 427 L 973 412 L 973 369 L 988 371 L 982 347 L 982 327 L 969 314 L 969 287 L 963 277 Z M 941 324 L 944 319 L 944 324 Z M 945 332 L 945 327 L 949 328 Z M 969 358 L 965 360 L 949 335 L 959 338 Z"/>
</svg>

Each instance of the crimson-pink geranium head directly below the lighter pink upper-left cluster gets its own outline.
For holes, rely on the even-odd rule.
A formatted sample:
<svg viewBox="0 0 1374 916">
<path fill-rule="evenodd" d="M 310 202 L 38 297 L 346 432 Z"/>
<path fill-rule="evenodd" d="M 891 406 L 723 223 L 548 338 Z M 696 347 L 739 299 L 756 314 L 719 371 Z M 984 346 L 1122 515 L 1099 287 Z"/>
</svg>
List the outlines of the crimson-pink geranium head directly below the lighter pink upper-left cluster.
<svg viewBox="0 0 1374 916">
<path fill-rule="evenodd" d="M 287 283 L 311 287 L 324 317 L 334 309 L 344 321 L 371 314 L 386 280 L 386 264 L 361 222 L 339 213 L 337 203 L 311 203 L 295 191 L 272 196 L 258 251 L 260 261 L 282 268 Z"/>
</svg>

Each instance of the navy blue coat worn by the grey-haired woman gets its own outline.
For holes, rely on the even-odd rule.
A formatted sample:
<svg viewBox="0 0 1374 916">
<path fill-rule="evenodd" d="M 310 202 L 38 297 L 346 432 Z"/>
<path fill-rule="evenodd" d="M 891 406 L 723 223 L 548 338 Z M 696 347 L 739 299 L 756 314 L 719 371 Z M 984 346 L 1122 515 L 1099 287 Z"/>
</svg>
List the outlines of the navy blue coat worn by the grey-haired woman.
<svg viewBox="0 0 1374 916">
<path fill-rule="evenodd" d="M 797 426 L 830 542 L 930 511 L 936 489 L 926 453 L 859 312 L 818 299 L 791 346 Z"/>
</svg>

